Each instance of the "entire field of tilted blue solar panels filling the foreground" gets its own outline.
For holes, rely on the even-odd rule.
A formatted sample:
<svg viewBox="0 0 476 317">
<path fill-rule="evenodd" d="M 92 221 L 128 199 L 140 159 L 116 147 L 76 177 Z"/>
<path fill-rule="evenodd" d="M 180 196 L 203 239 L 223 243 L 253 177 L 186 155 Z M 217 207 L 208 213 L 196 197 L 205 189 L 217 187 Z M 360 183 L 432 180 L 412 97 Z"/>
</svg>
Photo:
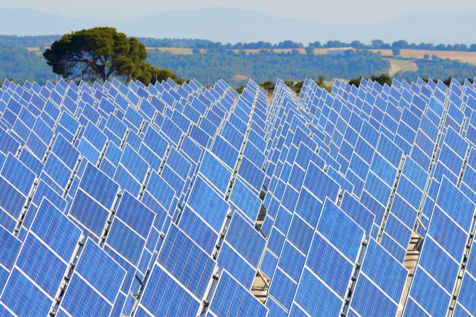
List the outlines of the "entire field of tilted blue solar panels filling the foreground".
<svg viewBox="0 0 476 317">
<path fill-rule="evenodd" d="M 468 81 L 5 81 L 0 113 L 1 316 L 476 316 Z"/>
</svg>

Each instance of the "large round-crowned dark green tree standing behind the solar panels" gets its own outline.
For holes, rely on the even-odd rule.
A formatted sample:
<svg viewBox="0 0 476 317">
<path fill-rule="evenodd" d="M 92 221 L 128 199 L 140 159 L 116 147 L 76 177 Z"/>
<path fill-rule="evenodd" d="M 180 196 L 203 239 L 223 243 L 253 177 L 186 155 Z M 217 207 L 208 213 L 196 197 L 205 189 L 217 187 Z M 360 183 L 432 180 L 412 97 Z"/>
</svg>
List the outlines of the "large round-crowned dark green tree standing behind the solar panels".
<svg viewBox="0 0 476 317">
<path fill-rule="evenodd" d="M 65 34 L 43 56 L 53 72 L 68 78 L 109 80 L 111 75 L 148 83 L 150 65 L 145 46 L 115 28 L 96 27 Z M 148 80 L 147 80 L 148 79 Z"/>
</svg>

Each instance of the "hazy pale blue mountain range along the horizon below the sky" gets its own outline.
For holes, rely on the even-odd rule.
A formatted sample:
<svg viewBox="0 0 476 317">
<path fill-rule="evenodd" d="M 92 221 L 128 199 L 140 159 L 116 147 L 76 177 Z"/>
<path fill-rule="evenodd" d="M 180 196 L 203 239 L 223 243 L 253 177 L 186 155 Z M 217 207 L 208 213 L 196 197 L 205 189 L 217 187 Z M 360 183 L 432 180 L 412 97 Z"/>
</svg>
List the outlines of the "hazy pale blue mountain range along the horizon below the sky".
<svg viewBox="0 0 476 317">
<path fill-rule="evenodd" d="M 384 42 L 472 44 L 476 11 L 461 13 L 415 13 L 387 22 L 364 24 L 323 24 L 309 19 L 284 19 L 264 13 L 208 8 L 168 11 L 134 19 L 69 18 L 35 10 L 0 9 L 0 34 L 63 34 L 94 26 L 112 26 L 128 36 L 153 38 L 197 38 L 222 43 L 293 40 L 309 42 L 373 39 Z"/>
</svg>

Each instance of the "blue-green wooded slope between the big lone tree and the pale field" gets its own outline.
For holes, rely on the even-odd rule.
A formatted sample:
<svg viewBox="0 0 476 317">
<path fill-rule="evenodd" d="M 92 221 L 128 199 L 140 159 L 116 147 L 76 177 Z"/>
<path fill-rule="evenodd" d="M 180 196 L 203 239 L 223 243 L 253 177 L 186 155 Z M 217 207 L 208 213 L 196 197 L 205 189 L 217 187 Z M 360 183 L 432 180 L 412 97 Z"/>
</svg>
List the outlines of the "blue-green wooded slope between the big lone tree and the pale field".
<svg viewBox="0 0 476 317">
<path fill-rule="evenodd" d="M 260 51 L 247 54 L 226 50 L 210 50 L 197 54 L 172 54 L 149 50 L 148 63 L 174 71 L 179 77 L 195 78 L 202 84 L 220 78 L 233 83 L 245 83 L 248 78 L 262 83 L 304 78 L 355 78 L 360 75 L 387 72 L 390 62 L 379 54 L 368 51 L 346 52 L 341 56 L 304 55 L 297 50 L 288 53 Z"/>
</svg>

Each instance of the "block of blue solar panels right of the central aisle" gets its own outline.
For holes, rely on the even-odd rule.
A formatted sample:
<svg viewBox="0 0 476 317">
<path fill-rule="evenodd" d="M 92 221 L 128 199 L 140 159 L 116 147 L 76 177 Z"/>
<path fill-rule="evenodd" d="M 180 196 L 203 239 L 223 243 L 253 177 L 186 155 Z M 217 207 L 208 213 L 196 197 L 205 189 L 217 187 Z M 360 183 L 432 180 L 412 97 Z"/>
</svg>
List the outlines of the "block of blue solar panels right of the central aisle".
<svg viewBox="0 0 476 317">
<path fill-rule="evenodd" d="M 475 93 L 468 81 L 449 89 L 421 80 L 363 80 L 359 89 L 338 82 L 332 94 L 306 81 L 296 98 L 278 85 L 260 264 L 272 276 L 270 315 L 386 316 L 400 303 L 406 316 L 476 314 Z M 310 212 L 323 203 L 320 218 Z M 334 212 L 326 236 L 319 227 L 327 208 L 346 216 Z M 359 246 L 349 218 L 369 242 Z M 424 241 L 406 298 L 402 264 L 414 230 Z M 340 245 L 346 239 L 354 242 Z"/>
</svg>

